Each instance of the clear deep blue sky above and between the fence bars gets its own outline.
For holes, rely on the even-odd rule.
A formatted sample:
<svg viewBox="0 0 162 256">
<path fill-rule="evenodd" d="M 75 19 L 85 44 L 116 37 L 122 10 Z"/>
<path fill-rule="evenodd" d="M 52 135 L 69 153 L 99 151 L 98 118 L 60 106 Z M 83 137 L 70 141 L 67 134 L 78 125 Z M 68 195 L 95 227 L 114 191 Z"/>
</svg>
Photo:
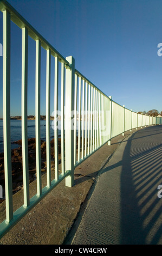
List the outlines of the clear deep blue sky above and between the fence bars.
<svg viewBox="0 0 162 256">
<path fill-rule="evenodd" d="M 8 0 L 63 57 L 133 111 L 162 110 L 161 0 Z M 3 43 L 0 13 L 0 43 Z M 21 29 L 11 25 L 11 115 L 21 115 Z M 35 44 L 29 40 L 28 114 L 35 114 Z M 43 63 L 45 60 L 45 63 Z M 46 53 L 42 51 L 42 70 Z M 46 75 L 46 71 L 44 72 Z M 41 114 L 46 77 L 41 76 Z M 51 81 L 53 81 L 53 72 Z M 53 91 L 51 92 L 53 93 Z M 2 117 L 2 57 L 0 57 Z M 51 110 L 53 106 L 51 106 Z"/>
</svg>

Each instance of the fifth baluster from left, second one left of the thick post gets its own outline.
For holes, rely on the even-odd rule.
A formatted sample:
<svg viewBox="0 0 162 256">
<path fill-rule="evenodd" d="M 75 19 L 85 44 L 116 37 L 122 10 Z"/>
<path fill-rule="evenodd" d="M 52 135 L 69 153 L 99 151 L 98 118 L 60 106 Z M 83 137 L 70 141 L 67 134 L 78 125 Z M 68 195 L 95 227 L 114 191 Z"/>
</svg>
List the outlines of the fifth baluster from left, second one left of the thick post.
<svg viewBox="0 0 162 256">
<path fill-rule="evenodd" d="M 55 179 L 59 179 L 59 148 L 58 148 L 58 121 L 57 121 L 57 111 L 58 111 L 58 78 L 59 77 L 59 60 L 55 57 L 55 96 L 54 96 L 54 124 L 55 124 Z"/>
</svg>

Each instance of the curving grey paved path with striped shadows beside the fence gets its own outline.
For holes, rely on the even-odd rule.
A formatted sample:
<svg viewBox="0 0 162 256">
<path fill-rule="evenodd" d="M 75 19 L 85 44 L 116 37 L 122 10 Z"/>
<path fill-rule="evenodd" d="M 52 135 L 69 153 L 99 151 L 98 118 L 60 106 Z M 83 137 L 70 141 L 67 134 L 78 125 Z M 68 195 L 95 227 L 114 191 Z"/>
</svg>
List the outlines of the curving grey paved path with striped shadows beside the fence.
<svg viewBox="0 0 162 256">
<path fill-rule="evenodd" d="M 161 153 L 162 125 L 120 144 L 102 169 L 72 244 L 162 243 Z"/>
</svg>

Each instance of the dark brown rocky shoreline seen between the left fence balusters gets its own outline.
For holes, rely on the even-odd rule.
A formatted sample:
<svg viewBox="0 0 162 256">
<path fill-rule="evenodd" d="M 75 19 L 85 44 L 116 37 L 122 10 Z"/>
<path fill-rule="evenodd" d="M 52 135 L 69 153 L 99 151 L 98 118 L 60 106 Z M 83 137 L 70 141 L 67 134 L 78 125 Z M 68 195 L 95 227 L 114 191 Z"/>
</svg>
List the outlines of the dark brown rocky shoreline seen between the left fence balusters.
<svg viewBox="0 0 162 256">
<path fill-rule="evenodd" d="M 54 142 L 52 139 L 51 145 L 51 168 L 55 166 Z M 20 147 L 11 150 L 12 164 L 12 193 L 15 194 L 23 188 L 23 167 L 22 167 L 22 140 L 15 141 L 14 144 Z M 61 163 L 61 138 L 58 138 L 59 145 L 59 164 Z M 28 139 L 28 163 L 29 163 L 29 183 L 36 179 L 36 143 L 35 138 Z M 41 170 L 42 174 L 46 173 L 46 142 L 41 140 Z M 0 198 L 0 203 L 5 200 L 4 190 L 4 154 L 0 153 L 0 184 L 3 187 L 3 198 Z"/>
</svg>

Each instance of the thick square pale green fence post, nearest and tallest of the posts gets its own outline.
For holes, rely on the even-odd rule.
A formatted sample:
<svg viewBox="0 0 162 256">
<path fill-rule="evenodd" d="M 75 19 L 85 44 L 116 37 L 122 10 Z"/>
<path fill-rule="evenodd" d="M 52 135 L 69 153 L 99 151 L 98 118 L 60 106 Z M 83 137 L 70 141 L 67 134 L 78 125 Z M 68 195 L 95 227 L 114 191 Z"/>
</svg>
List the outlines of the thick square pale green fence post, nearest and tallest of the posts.
<svg viewBox="0 0 162 256">
<path fill-rule="evenodd" d="M 66 186 L 74 185 L 74 127 L 72 117 L 74 114 L 74 75 L 75 60 L 72 56 L 66 58 L 69 67 L 66 68 L 66 108 L 65 108 L 65 168 L 70 170 L 70 175 L 66 177 Z"/>
</svg>

